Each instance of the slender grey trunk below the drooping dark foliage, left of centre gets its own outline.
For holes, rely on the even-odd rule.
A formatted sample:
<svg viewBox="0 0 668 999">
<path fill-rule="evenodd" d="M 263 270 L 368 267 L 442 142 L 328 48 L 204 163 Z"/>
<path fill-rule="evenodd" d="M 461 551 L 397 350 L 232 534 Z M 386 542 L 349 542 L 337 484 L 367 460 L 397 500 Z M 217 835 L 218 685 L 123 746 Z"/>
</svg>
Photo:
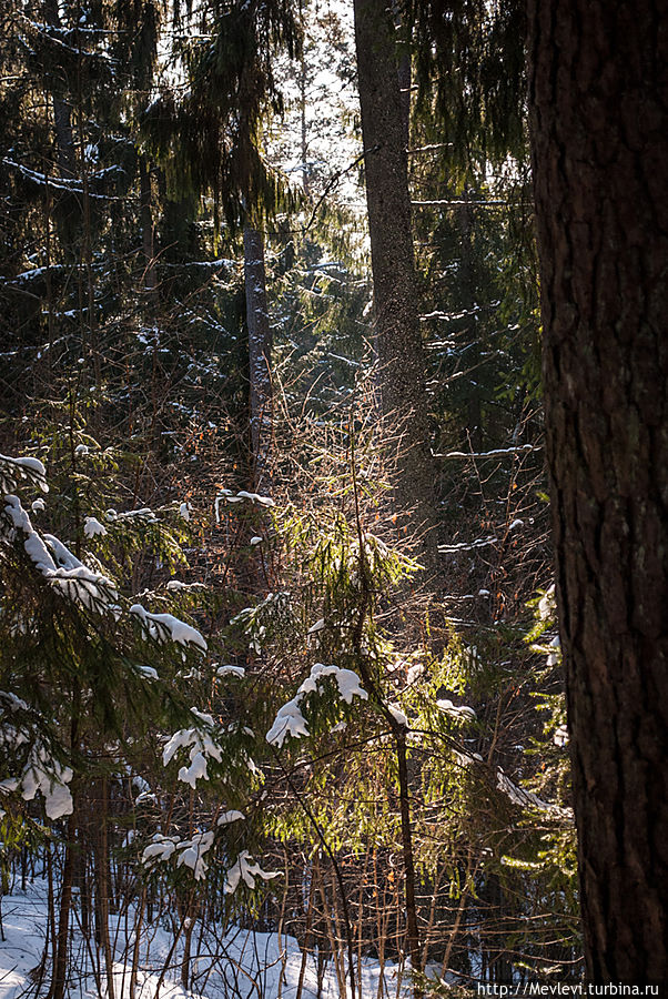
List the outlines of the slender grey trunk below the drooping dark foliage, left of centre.
<svg viewBox="0 0 668 999">
<path fill-rule="evenodd" d="M 272 435 L 272 331 L 266 303 L 264 240 L 256 229 L 243 234 L 246 324 L 249 327 L 251 461 L 253 486 L 270 484 Z"/>
</svg>

